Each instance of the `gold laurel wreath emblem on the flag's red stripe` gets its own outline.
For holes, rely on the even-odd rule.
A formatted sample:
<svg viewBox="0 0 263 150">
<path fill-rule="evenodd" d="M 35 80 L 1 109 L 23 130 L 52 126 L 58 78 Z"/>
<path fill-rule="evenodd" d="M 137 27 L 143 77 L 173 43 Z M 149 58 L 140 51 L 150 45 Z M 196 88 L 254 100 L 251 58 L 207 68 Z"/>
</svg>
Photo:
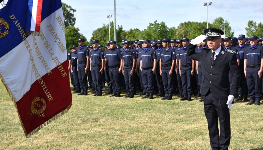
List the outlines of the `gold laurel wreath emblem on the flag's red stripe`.
<svg viewBox="0 0 263 150">
<path fill-rule="evenodd" d="M 41 101 L 42 102 L 42 105 L 41 104 L 37 104 L 36 102 L 37 101 Z M 41 108 L 41 109 L 36 109 L 35 106 Z M 37 114 L 37 116 L 39 117 L 45 117 L 45 114 L 43 113 L 44 110 L 46 109 L 46 101 L 44 98 L 39 98 L 39 97 L 35 97 L 31 103 L 31 107 L 30 107 L 30 111 L 29 113 L 32 115 L 32 114 Z"/>
</svg>

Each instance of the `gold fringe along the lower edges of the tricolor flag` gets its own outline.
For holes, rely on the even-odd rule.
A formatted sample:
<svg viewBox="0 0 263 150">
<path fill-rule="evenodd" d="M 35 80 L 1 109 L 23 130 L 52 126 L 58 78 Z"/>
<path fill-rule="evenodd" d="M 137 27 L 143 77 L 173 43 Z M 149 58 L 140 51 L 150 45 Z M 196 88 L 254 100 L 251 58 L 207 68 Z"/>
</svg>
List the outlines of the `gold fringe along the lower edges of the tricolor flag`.
<svg viewBox="0 0 263 150">
<path fill-rule="evenodd" d="M 7 87 L 7 84 L 5 83 L 4 79 L 2 78 L 1 74 L 0 74 L 0 79 L 1 79 L 1 81 L 2 81 L 2 83 L 3 83 L 3 85 L 5 86 L 5 88 L 6 88 L 6 90 L 7 90 L 7 93 L 8 93 L 9 96 L 11 97 L 11 99 L 12 99 L 12 101 L 13 101 L 13 103 L 15 104 L 16 109 L 17 109 L 17 103 L 16 103 L 16 101 L 15 101 L 15 99 L 14 99 L 11 91 L 10 91 L 9 88 Z M 34 133 L 37 133 L 37 131 L 39 131 L 41 128 L 45 127 L 46 125 L 48 125 L 48 124 L 51 123 L 52 121 L 56 120 L 57 118 L 63 116 L 65 113 L 67 113 L 67 112 L 69 111 L 69 109 L 71 108 L 71 106 L 72 106 L 72 103 L 70 103 L 70 105 L 69 105 L 65 110 L 63 110 L 62 112 L 56 114 L 56 115 L 53 116 L 51 119 L 47 120 L 45 123 L 41 124 L 39 127 L 37 127 L 35 130 L 33 130 L 31 133 L 28 133 L 28 134 L 27 134 L 27 132 L 26 132 L 26 130 L 25 130 L 25 127 L 24 127 L 24 125 L 23 125 L 23 123 L 22 123 L 22 119 L 21 119 L 21 117 L 20 117 L 20 115 L 19 115 L 19 112 L 18 112 L 18 109 L 17 109 L 18 118 L 19 118 L 20 123 L 21 123 L 21 125 L 22 125 L 22 127 L 23 127 L 25 136 L 26 136 L 27 138 L 30 138 Z"/>
</svg>

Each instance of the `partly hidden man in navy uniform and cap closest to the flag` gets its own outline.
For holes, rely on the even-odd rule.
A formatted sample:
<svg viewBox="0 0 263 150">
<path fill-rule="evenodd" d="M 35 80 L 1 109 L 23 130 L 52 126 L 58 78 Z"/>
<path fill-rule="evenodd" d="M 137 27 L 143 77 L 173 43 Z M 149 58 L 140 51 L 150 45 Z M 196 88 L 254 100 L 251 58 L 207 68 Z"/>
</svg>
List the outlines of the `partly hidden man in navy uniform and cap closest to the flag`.
<svg viewBox="0 0 263 150">
<path fill-rule="evenodd" d="M 72 59 L 72 65 L 71 65 L 71 73 L 73 75 L 73 80 L 75 83 L 75 91 L 73 93 L 80 93 L 80 82 L 79 82 L 79 77 L 78 77 L 78 71 L 77 71 L 77 65 L 78 65 L 78 46 L 77 45 L 73 45 L 71 47 L 71 59 Z"/>
</svg>

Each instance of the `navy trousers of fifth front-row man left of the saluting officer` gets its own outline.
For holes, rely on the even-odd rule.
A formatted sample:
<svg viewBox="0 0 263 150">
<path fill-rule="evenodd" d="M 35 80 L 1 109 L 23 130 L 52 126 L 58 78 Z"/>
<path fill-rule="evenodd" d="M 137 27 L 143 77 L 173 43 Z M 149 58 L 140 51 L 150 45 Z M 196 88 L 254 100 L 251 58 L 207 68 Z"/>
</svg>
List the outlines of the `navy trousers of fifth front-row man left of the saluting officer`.
<svg viewBox="0 0 263 150">
<path fill-rule="evenodd" d="M 110 81 L 112 84 L 113 93 L 120 94 L 122 86 L 122 78 L 119 73 L 119 67 L 109 68 Z"/>
</svg>

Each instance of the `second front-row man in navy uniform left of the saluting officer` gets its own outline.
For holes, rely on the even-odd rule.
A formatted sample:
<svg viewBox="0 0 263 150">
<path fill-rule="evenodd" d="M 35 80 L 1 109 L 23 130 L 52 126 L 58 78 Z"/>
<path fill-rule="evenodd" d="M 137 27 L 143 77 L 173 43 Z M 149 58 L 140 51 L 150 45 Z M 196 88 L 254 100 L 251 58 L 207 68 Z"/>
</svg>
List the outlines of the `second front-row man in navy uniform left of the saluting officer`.
<svg viewBox="0 0 263 150">
<path fill-rule="evenodd" d="M 163 87 L 165 97 L 162 99 L 171 100 L 173 92 L 173 67 L 176 55 L 172 47 L 169 46 L 170 40 L 164 38 L 162 40 L 163 49 L 160 56 L 160 75 L 163 79 Z"/>
</svg>

